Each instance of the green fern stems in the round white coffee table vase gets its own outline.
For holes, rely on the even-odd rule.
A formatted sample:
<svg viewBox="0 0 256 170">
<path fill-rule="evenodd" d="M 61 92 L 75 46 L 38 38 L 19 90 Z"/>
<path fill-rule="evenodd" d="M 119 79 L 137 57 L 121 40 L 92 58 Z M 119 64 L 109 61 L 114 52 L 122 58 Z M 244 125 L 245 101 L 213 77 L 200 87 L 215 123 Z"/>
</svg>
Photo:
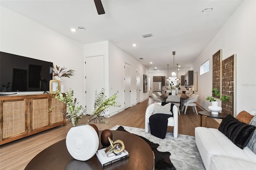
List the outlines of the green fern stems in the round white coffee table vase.
<svg viewBox="0 0 256 170">
<path fill-rule="evenodd" d="M 105 119 L 108 117 L 106 115 L 107 109 L 111 106 L 114 107 L 120 107 L 120 105 L 117 104 L 117 95 L 118 91 L 114 93 L 114 95 L 110 97 L 106 97 L 105 89 L 102 89 L 100 93 L 97 93 L 95 91 L 95 101 L 94 101 L 94 111 L 90 115 L 89 119 L 86 121 L 84 125 L 88 125 L 90 122 L 93 122 L 94 124 L 107 124 L 109 125 L 109 122 L 105 121 Z M 54 92 L 55 98 L 59 101 L 62 101 L 66 104 L 67 111 L 65 109 L 62 109 L 63 115 L 66 117 L 67 120 L 72 122 L 73 127 L 78 126 L 78 123 L 82 119 L 84 115 L 87 115 L 86 109 L 82 107 L 80 103 L 76 103 L 76 98 L 73 98 L 74 91 L 70 89 L 70 91 L 66 92 L 65 95 L 60 93 L 60 91 Z M 54 109 L 54 106 L 49 109 L 49 111 L 52 111 Z"/>
</svg>

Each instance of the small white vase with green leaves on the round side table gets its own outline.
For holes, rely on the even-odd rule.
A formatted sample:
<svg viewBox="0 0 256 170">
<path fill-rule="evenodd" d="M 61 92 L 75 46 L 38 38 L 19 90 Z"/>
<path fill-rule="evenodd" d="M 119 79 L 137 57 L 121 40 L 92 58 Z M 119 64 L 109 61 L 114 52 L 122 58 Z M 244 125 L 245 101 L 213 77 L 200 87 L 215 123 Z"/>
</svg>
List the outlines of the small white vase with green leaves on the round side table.
<svg viewBox="0 0 256 170">
<path fill-rule="evenodd" d="M 222 97 L 220 97 L 220 99 L 217 101 L 215 98 L 218 96 L 220 96 L 220 91 L 218 91 L 218 89 L 216 88 L 213 88 L 212 96 L 208 96 L 206 98 L 206 100 L 209 100 L 210 102 L 212 102 L 212 105 L 208 106 L 208 109 L 212 111 L 213 115 L 218 115 L 218 112 L 222 110 L 222 108 L 218 106 L 219 101 L 224 101 L 224 102 L 229 101 L 229 96 L 224 96 L 224 95 L 222 95 Z"/>
</svg>

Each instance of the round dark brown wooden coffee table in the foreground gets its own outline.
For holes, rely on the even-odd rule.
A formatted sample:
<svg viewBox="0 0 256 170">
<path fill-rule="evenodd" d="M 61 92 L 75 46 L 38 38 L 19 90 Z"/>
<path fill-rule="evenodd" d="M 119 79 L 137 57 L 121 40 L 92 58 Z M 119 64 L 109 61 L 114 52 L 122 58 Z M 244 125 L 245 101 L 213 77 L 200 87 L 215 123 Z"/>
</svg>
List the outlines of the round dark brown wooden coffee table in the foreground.
<svg viewBox="0 0 256 170">
<path fill-rule="evenodd" d="M 148 143 L 135 134 L 111 130 L 113 141 L 124 142 L 129 158 L 104 167 L 104 170 L 152 170 L 154 155 Z M 102 131 L 99 132 L 99 136 Z M 100 140 L 100 139 L 99 139 Z M 102 148 L 100 142 L 99 149 Z M 101 170 L 103 169 L 96 154 L 86 161 L 75 160 L 68 152 L 66 139 L 61 140 L 37 154 L 26 166 L 25 170 Z"/>
</svg>

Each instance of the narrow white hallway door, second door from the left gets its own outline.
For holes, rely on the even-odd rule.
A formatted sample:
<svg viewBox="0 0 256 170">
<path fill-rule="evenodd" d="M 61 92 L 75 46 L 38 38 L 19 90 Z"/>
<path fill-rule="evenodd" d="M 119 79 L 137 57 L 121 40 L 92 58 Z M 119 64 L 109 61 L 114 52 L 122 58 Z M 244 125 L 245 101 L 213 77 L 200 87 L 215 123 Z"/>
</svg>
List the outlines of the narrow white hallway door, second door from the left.
<svg viewBox="0 0 256 170">
<path fill-rule="evenodd" d="M 131 66 L 124 63 L 124 109 L 131 107 Z"/>
</svg>

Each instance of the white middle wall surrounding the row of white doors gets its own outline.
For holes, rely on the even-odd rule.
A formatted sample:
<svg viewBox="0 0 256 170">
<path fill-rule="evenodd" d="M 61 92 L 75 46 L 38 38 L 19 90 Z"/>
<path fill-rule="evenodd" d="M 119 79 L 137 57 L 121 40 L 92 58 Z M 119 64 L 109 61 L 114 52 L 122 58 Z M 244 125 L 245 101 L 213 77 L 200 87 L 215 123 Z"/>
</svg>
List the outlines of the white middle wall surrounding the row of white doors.
<svg viewBox="0 0 256 170">
<path fill-rule="evenodd" d="M 136 105 L 136 69 L 141 72 L 141 93 L 140 101 L 148 98 L 148 92 L 143 93 L 143 74 L 148 75 L 148 68 L 140 64 L 133 57 L 116 47 L 114 44 L 106 41 L 99 43 L 91 43 L 84 45 L 84 55 L 85 57 L 104 55 L 106 64 L 106 74 L 105 77 L 105 88 L 106 95 L 112 95 L 118 91 L 118 99 L 120 108 L 111 107 L 109 109 L 109 114 L 114 115 L 119 111 L 124 110 L 124 63 L 131 65 L 131 106 Z"/>
</svg>

